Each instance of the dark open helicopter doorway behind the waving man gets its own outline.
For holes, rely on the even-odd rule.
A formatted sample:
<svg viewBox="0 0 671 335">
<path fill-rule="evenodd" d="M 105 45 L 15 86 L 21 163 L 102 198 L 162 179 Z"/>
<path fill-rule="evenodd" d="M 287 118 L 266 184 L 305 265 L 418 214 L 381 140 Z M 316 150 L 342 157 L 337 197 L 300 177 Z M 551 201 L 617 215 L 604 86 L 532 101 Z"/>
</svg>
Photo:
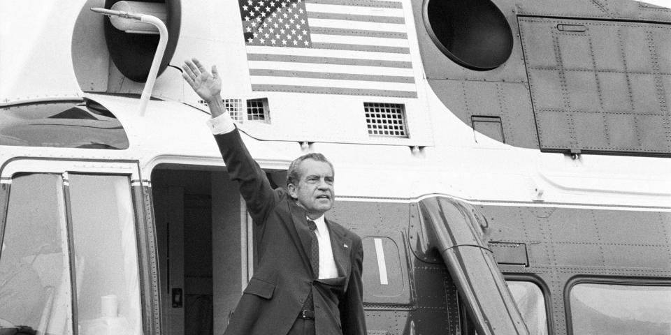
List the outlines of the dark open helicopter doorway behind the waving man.
<svg viewBox="0 0 671 335">
<path fill-rule="evenodd" d="M 247 285 L 247 214 L 238 187 L 214 168 L 152 172 L 166 334 L 222 334 Z"/>
</svg>

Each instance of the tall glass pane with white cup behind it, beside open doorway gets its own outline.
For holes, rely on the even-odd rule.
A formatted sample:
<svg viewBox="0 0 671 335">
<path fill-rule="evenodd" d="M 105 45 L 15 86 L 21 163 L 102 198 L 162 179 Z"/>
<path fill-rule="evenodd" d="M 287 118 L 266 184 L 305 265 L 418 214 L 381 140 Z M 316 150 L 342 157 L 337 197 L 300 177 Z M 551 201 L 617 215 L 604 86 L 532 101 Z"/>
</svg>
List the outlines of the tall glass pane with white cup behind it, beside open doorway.
<svg viewBox="0 0 671 335">
<path fill-rule="evenodd" d="M 129 178 L 70 174 L 80 335 L 142 334 Z"/>
</svg>

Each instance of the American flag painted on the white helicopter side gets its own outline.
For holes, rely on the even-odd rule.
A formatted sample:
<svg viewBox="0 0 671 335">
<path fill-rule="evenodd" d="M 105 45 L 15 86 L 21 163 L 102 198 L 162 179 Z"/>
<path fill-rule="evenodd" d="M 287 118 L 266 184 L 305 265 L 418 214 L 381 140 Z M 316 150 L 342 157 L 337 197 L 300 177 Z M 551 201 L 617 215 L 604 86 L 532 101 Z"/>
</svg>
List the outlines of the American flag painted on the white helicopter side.
<svg viewBox="0 0 671 335">
<path fill-rule="evenodd" d="M 417 98 L 401 0 L 238 0 L 253 91 Z"/>
</svg>

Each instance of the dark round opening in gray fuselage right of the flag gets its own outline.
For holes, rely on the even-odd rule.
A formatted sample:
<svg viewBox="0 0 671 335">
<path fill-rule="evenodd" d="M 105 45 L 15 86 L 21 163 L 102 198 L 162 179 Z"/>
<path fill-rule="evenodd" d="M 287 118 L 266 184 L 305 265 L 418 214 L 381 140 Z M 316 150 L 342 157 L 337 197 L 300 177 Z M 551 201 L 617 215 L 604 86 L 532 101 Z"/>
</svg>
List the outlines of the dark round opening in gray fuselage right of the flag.
<svg viewBox="0 0 671 335">
<path fill-rule="evenodd" d="M 490 0 L 426 0 L 424 24 L 449 59 L 472 70 L 491 70 L 512 52 L 512 31 Z"/>
</svg>

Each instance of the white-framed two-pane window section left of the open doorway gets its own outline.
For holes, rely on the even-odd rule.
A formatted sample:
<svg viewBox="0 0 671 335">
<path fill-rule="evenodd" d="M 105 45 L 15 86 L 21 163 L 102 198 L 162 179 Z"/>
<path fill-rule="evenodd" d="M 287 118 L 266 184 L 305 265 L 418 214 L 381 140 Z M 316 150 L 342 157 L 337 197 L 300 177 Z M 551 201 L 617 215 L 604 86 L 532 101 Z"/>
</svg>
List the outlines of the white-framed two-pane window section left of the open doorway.
<svg viewBox="0 0 671 335">
<path fill-rule="evenodd" d="M 0 328 L 151 334 L 131 190 L 138 179 L 135 163 L 25 159 L 3 167 Z"/>
</svg>

